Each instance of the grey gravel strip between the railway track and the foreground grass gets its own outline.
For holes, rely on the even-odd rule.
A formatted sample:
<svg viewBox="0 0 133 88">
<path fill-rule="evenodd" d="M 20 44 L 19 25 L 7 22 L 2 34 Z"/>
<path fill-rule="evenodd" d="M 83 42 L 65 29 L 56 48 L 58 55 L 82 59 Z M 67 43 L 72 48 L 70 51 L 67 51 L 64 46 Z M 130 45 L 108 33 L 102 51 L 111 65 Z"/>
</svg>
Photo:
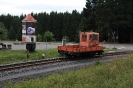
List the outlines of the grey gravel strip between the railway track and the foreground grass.
<svg viewBox="0 0 133 88">
<path fill-rule="evenodd" d="M 60 63 L 36 66 L 31 68 L 23 68 L 18 70 L 6 71 L 0 73 L 0 88 L 3 88 L 10 81 L 12 83 L 22 82 L 28 79 L 36 79 L 46 77 L 58 71 L 74 71 L 83 67 L 92 65 L 99 60 L 100 62 L 108 62 L 115 58 L 123 59 L 127 55 L 96 57 L 78 61 L 65 61 Z"/>
</svg>

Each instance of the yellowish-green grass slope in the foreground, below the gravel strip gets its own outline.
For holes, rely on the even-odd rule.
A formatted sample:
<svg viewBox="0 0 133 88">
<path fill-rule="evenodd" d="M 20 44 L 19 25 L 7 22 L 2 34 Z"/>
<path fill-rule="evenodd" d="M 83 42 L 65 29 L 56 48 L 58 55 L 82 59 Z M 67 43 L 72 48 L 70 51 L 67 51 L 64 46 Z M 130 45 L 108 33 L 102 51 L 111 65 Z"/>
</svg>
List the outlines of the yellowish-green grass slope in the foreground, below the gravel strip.
<svg viewBox="0 0 133 88">
<path fill-rule="evenodd" d="M 9 83 L 6 88 L 133 88 L 133 56 L 84 67 L 77 71 L 57 72 L 46 78 Z"/>
</svg>

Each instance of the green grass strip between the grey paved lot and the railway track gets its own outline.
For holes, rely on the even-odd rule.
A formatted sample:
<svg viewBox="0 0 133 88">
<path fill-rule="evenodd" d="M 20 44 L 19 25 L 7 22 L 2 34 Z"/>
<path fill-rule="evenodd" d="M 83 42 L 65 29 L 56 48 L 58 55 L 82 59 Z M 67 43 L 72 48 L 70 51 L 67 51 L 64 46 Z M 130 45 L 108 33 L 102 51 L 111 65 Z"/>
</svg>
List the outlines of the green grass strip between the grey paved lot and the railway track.
<svg viewBox="0 0 133 88">
<path fill-rule="evenodd" d="M 45 54 L 45 58 L 59 57 L 60 54 L 57 49 L 36 50 L 33 53 L 29 53 L 27 58 L 26 50 L 1 50 L 0 51 L 0 64 L 8 64 L 15 62 L 25 62 L 29 60 L 42 59 L 42 54 Z"/>
</svg>

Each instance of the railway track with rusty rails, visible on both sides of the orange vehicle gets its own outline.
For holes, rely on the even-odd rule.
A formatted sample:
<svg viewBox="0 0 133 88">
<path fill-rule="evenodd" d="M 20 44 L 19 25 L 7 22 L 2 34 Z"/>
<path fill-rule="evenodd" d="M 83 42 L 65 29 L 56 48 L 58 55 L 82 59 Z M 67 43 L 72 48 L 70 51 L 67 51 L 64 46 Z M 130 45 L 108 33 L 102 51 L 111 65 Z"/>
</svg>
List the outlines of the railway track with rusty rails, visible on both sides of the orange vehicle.
<svg viewBox="0 0 133 88">
<path fill-rule="evenodd" d="M 132 53 L 131 51 L 112 52 L 112 53 L 105 53 L 101 55 L 101 57 L 114 56 L 114 55 L 125 55 L 125 54 L 131 54 L 131 53 Z M 33 61 L 22 62 L 22 63 L 5 64 L 5 65 L 0 65 L 0 72 L 28 68 L 32 66 L 41 66 L 45 64 L 57 63 L 57 62 L 63 62 L 63 61 L 73 61 L 73 60 L 81 60 L 81 59 L 68 59 L 65 57 L 64 58 L 58 57 L 58 58 L 52 58 L 52 59 L 33 60 Z"/>
</svg>

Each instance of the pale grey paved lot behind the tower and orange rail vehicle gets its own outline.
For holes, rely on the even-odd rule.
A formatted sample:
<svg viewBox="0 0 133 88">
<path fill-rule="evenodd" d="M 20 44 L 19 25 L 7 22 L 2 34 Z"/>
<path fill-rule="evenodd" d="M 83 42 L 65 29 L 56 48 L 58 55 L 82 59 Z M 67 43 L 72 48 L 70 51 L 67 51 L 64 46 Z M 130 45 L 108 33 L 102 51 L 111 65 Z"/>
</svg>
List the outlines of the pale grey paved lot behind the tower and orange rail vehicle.
<svg viewBox="0 0 133 88">
<path fill-rule="evenodd" d="M 13 44 L 10 42 L 3 42 L 4 44 L 12 45 L 12 50 L 26 50 L 26 44 Z M 72 45 L 73 43 L 67 43 L 67 45 Z M 36 43 L 36 50 L 45 50 L 49 48 L 57 48 L 59 45 L 62 45 L 61 42 L 59 43 L 52 43 L 52 42 L 37 42 Z M 104 44 L 100 43 L 101 46 L 104 46 L 106 48 L 117 48 L 119 51 L 122 50 L 133 50 L 133 44 Z"/>
</svg>

